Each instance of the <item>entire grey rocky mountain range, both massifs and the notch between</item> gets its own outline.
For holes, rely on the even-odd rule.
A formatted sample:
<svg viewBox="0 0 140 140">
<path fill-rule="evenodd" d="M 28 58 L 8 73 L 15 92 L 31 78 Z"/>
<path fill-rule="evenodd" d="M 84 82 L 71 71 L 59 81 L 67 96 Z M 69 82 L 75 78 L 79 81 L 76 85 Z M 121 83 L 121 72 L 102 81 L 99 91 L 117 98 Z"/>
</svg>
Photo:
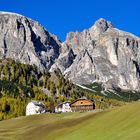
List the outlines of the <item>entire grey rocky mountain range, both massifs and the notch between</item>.
<svg viewBox="0 0 140 140">
<path fill-rule="evenodd" d="M 99 19 L 83 32 L 71 32 L 65 42 L 38 22 L 0 13 L 0 58 L 60 71 L 77 84 L 101 82 L 106 89 L 140 90 L 140 38 Z"/>
</svg>

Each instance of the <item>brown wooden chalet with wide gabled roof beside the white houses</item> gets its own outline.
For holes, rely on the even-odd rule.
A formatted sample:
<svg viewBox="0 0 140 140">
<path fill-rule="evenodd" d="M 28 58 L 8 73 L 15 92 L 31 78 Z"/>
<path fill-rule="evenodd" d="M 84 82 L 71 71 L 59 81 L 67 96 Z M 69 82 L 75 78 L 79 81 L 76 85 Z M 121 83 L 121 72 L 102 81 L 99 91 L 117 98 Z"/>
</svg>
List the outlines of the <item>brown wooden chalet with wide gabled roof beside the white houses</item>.
<svg viewBox="0 0 140 140">
<path fill-rule="evenodd" d="M 85 112 L 95 109 L 95 104 L 86 98 L 79 98 L 70 104 L 72 112 Z"/>
</svg>

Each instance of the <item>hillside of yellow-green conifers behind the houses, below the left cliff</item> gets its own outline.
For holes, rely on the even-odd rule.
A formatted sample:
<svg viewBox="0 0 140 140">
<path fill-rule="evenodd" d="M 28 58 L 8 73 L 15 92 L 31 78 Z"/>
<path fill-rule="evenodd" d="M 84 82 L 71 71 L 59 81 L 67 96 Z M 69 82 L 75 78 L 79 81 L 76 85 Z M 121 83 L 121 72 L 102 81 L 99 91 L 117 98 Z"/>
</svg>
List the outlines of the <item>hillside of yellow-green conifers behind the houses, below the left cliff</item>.
<svg viewBox="0 0 140 140">
<path fill-rule="evenodd" d="M 97 109 L 124 104 L 80 90 L 59 71 L 39 71 L 35 65 L 21 64 L 12 59 L 0 60 L 0 120 L 24 116 L 26 105 L 31 100 L 42 101 L 47 111 L 54 112 L 57 104 L 83 96 L 93 100 Z"/>
</svg>

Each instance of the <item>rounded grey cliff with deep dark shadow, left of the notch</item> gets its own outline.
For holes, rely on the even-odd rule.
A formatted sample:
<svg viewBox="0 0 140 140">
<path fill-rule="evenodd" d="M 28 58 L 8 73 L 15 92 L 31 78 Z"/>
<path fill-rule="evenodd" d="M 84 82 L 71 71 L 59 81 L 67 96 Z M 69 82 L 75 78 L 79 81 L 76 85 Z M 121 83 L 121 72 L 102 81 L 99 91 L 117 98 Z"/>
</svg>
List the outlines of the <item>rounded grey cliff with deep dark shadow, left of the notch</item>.
<svg viewBox="0 0 140 140">
<path fill-rule="evenodd" d="M 14 13 L 0 13 L 0 58 L 50 68 L 59 56 L 60 41 L 38 22 Z"/>
</svg>

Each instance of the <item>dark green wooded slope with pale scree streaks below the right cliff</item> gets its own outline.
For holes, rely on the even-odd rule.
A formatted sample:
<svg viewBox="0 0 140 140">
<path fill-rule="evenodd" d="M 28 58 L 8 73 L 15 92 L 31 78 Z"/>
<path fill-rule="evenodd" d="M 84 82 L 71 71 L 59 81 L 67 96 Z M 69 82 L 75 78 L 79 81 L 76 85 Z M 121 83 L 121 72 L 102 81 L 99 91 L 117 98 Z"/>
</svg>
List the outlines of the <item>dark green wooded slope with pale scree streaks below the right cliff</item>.
<svg viewBox="0 0 140 140">
<path fill-rule="evenodd" d="M 137 101 L 140 99 L 139 91 L 122 90 L 120 88 L 105 89 L 100 83 L 92 83 L 89 85 L 78 85 L 82 91 L 88 91 L 95 95 L 104 96 L 110 99 L 117 99 L 121 101 Z"/>
</svg>

